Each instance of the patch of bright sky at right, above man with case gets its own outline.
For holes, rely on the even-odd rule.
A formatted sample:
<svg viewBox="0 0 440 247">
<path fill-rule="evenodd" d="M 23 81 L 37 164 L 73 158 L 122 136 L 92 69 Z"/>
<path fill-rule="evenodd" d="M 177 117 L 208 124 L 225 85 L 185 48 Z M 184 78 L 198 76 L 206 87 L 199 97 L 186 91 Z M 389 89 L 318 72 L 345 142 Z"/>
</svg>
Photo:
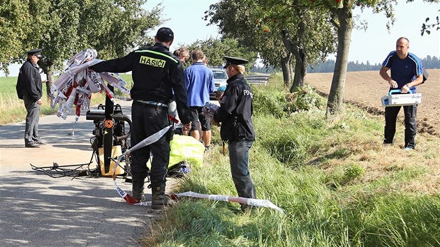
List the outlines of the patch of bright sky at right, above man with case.
<svg viewBox="0 0 440 247">
<path fill-rule="evenodd" d="M 368 22 L 368 29 L 353 30 L 351 33 L 349 61 L 382 63 L 386 55 L 395 50 L 397 38 L 402 36 L 409 39 L 409 52 L 416 54 L 420 59 L 427 55 L 440 57 L 440 30 L 431 29 L 430 35 L 425 33 L 420 36 L 426 17 L 430 17 L 428 23 L 434 23 L 435 17 L 440 14 L 440 5 L 422 3 L 421 0 L 416 2 L 399 1 L 395 7 L 395 24 L 390 31 L 386 29 L 387 18 L 383 13 L 373 14 L 372 10 L 361 13 L 355 9 L 355 15 L 360 15 L 361 20 Z"/>
</svg>

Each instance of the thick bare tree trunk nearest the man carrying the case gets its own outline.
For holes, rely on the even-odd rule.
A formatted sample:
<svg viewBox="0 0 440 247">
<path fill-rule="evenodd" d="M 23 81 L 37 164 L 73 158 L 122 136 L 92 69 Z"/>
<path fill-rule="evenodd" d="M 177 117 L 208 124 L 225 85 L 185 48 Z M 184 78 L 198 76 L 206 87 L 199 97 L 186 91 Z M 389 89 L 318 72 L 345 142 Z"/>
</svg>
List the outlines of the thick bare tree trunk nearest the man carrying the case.
<svg viewBox="0 0 440 247">
<path fill-rule="evenodd" d="M 344 102 L 345 78 L 349 61 L 351 31 L 353 30 L 353 13 L 351 6 L 344 6 L 337 10 L 339 28 L 337 29 L 337 54 L 332 86 L 328 95 L 327 111 L 325 115 L 337 114 L 342 110 Z"/>
</svg>

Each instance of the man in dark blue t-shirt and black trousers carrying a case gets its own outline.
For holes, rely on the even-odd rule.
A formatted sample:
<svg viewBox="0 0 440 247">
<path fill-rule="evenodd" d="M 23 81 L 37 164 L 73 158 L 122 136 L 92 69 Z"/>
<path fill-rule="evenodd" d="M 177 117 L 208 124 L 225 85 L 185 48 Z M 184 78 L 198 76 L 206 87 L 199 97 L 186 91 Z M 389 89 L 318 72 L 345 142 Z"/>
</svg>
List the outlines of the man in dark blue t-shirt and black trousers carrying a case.
<svg viewBox="0 0 440 247">
<path fill-rule="evenodd" d="M 399 38 L 396 42 L 396 50 L 390 52 L 382 63 L 379 72 L 383 80 L 390 84 L 391 89 L 401 89 L 402 93 L 416 93 L 416 86 L 423 83 L 423 66 L 422 61 L 411 52 L 408 52 L 409 40 L 407 38 Z M 388 75 L 391 70 L 391 76 Z M 385 131 L 383 144 L 393 144 L 396 132 L 397 114 L 399 114 L 400 106 L 385 108 Z M 413 150 L 416 148 L 416 132 L 417 132 L 417 105 L 404 105 L 405 117 L 405 150 Z"/>
</svg>

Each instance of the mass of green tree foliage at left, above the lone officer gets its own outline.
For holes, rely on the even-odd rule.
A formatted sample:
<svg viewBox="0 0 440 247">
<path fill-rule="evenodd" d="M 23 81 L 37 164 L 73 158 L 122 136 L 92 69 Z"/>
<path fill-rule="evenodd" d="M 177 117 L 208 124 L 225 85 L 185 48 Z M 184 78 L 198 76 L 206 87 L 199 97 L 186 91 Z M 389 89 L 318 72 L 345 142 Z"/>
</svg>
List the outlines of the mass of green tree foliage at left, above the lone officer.
<svg viewBox="0 0 440 247">
<path fill-rule="evenodd" d="M 39 62 L 47 79 L 76 52 L 89 47 L 101 59 L 122 56 L 147 42 L 161 24 L 160 4 L 144 10 L 145 0 L 9 0 L 0 4 L 0 66 L 25 59 L 24 51 L 43 48 Z M 4 35 L 5 33 L 6 35 Z M 8 35 L 10 34 L 10 36 Z"/>
</svg>

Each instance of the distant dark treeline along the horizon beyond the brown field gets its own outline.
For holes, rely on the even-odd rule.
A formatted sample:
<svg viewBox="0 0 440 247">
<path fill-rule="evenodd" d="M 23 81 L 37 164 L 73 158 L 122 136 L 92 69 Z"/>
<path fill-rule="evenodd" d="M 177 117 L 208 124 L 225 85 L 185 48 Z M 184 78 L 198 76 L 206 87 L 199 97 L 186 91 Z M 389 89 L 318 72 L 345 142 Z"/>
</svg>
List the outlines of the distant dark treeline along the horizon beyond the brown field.
<svg viewBox="0 0 440 247">
<path fill-rule="evenodd" d="M 307 73 L 332 73 L 335 70 L 335 60 L 329 59 L 327 61 L 318 63 L 314 66 L 307 66 Z M 425 68 L 440 68 L 440 60 L 437 57 L 427 56 L 422 59 L 423 66 Z M 369 61 L 367 63 L 359 63 L 358 61 L 350 61 L 347 66 L 347 71 L 367 71 L 367 70 L 380 70 L 382 63 L 371 64 Z M 273 67 L 252 67 L 251 72 L 253 73 L 273 73 L 279 72 L 280 69 Z"/>
</svg>

